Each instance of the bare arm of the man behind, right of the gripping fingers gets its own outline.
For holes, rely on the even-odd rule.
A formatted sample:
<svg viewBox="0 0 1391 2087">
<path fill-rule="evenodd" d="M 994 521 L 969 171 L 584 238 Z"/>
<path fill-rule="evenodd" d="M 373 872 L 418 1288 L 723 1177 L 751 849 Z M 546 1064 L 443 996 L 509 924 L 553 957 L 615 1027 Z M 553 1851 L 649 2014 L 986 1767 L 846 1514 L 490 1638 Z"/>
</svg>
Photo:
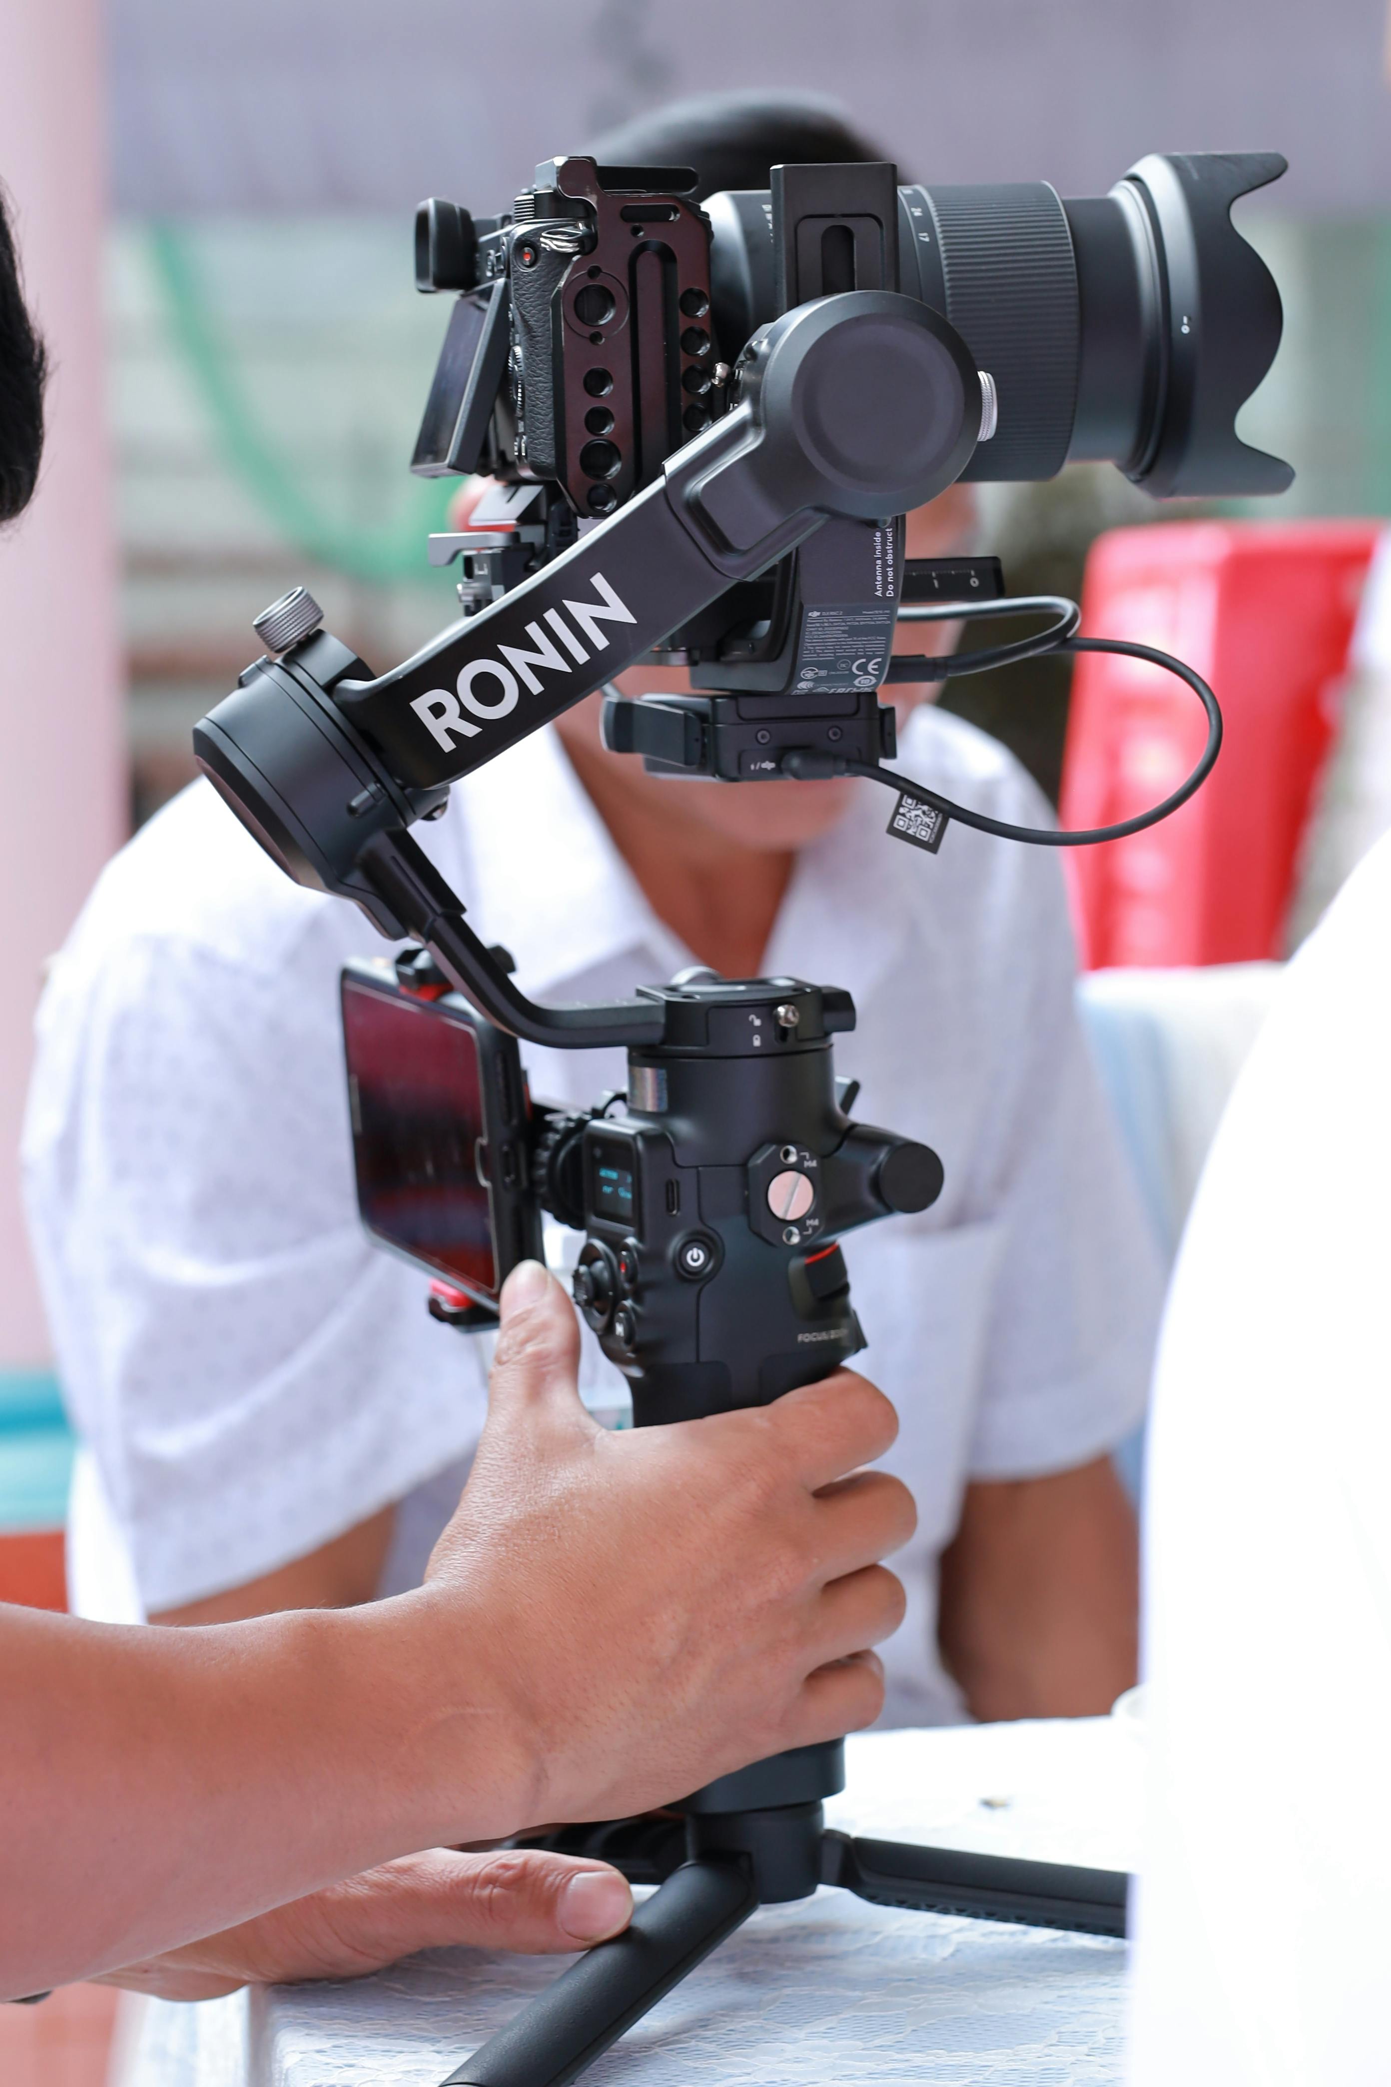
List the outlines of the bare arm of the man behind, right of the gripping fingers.
<svg viewBox="0 0 1391 2087">
<path fill-rule="evenodd" d="M 1139 1546 L 1109 1457 L 974 1484 L 943 1553 L 943 1659 L 976 1718 L 1087 1718 L 1134 1682 Z"/>
</svg>

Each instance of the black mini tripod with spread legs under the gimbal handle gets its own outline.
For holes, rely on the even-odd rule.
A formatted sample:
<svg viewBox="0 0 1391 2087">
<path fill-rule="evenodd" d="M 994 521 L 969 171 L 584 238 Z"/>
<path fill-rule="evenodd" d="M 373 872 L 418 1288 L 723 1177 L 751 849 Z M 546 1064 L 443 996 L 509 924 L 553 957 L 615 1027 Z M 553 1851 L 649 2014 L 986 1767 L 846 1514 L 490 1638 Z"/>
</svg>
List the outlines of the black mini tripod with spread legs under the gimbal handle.
<svg viewBox="0 0 1391 2087">
<path fill-rule="evenodd" d="M 824 1826 L 845 1789 L 845 1743 L 799 1747 L 707 1784 L 680 1818 L 580 1826 L 544 1845 L 601 1855 L 661 1889 L 448 2074 L 444 2087 L 565 2087 L 759 1905 L 838 1885 L 876 1905 L 1078 1935 L 1124 1935 L 1120 1870 L 870 1841 Z"/>
</svg>

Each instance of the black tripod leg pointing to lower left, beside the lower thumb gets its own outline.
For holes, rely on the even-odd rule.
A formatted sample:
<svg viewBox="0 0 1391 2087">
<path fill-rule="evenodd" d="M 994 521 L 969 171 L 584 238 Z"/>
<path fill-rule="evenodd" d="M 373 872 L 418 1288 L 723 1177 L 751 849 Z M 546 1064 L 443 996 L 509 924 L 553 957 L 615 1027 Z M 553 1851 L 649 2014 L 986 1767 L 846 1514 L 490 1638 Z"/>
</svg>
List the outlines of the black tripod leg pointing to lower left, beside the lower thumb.
<svg viewBox="0 0 1391 2087">
<path fill-rule="evenodd" d="M 444 2087 L 565 2087 L 757 1908 L 738 1862 L 688 1862 L 555 1985 L 448 2074 Z"/>
</svg>

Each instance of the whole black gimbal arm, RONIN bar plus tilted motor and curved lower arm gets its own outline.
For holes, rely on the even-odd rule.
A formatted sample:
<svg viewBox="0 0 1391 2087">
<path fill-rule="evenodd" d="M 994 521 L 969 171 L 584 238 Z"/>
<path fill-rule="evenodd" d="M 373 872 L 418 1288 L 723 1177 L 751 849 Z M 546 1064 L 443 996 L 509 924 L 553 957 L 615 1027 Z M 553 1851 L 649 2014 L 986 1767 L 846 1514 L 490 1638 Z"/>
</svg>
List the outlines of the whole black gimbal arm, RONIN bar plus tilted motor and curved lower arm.
<svg viewBox="0 0 1391 2087">
<path fill-rule="evenodd" d="M 941 313 L 886 290 L 799 305 L 749 342 L 740 403 L 663 478 L 490 609 L 363 678 L 327 632 L 259 659 L 194 730 L 198 766 L 300 885 L 421 935 L 515 1035 L 644 1044 L 644 1002 L 538 1008 L 405 829 L 828 515 L 905 513 L 966 467 L 980 378 Z"/>
</svg>

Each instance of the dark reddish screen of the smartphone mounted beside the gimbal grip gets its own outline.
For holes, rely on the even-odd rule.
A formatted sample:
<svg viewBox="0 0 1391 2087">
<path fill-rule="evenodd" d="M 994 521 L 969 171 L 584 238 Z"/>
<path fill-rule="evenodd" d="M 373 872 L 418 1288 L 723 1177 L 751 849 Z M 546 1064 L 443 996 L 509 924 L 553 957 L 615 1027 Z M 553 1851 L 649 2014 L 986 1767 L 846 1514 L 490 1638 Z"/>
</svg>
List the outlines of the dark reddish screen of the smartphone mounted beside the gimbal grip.
<svg viewBox="0 0 1391 2087">
<path fill-rule="evenodd" d="M 478 1037 L 467 1021 L 344 981 L 357 1204 L 380 1240 L 496 1294 Z"/>
</svg>

